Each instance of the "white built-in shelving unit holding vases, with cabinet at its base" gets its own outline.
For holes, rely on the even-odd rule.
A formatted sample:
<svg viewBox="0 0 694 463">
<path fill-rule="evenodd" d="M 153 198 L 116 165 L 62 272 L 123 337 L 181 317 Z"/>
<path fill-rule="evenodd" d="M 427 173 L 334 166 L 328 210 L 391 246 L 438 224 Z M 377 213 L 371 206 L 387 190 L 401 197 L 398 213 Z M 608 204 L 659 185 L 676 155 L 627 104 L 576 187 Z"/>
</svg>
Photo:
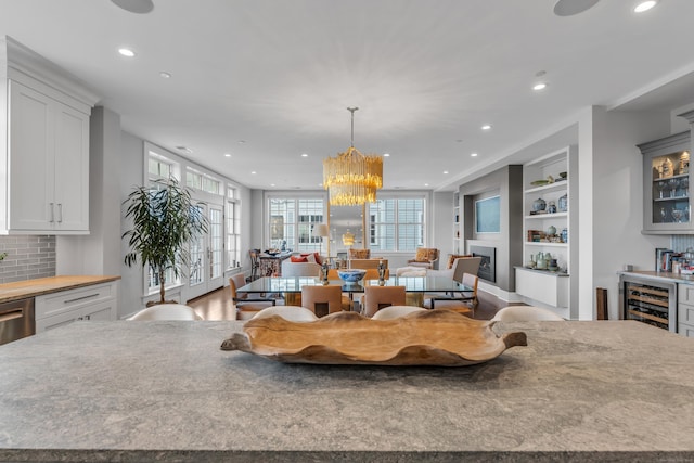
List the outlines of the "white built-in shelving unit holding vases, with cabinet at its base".
<svg viewBox="0 0 694 463">
<path fill-rule="evenodd" d="M 576 163 L 577 149 L 567 146 L 523 168 L 524 265 L 516 267 L 516 293 L 564 318 L 578 318 L 578 308 L 571 305 L 576 278 L 573 282 L 570 276 L 576 272 L 571 262 L 576 240 L 570 233 L 577 229 Z"/>
</svg>

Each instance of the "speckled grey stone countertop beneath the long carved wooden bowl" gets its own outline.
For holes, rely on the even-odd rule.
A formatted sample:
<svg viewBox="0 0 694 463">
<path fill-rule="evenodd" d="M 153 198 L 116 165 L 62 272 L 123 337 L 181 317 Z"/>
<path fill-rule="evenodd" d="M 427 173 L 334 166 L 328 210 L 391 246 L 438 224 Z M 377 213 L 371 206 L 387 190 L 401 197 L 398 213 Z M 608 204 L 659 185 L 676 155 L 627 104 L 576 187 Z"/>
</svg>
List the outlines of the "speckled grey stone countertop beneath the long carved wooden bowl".
<svg viewBox="0 0 694 463">
<path fill-rule="evenodd" d="M 694 339 L 499 323 L 465 368 L 283 364 L 241 322 L 76 322 L 0 346 L 0 461 L 693 461 Z"/>
</svg>

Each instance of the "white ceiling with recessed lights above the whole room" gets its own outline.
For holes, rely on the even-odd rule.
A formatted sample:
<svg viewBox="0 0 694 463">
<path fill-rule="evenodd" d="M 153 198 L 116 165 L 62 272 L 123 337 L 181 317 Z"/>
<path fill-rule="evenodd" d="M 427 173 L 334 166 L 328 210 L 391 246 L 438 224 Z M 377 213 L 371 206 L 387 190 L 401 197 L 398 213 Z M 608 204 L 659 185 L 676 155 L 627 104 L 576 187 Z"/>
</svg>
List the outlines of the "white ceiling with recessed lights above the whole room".
<svg viewBox="0 0 694 463">
<path fill-rule="evenodd" d="M 153 1 L 0 0 L 0 34 L 85 81 L 127 132 L 253 189 L 319 189 L 322 159 L 349 147 L 348 106 L 355 146 L 390 154 L 384 189 L 452 190 L 576 142 L 587 106 L 694 102 L 692 0 L 571 16 L 556 0 Z"/>
</svg>

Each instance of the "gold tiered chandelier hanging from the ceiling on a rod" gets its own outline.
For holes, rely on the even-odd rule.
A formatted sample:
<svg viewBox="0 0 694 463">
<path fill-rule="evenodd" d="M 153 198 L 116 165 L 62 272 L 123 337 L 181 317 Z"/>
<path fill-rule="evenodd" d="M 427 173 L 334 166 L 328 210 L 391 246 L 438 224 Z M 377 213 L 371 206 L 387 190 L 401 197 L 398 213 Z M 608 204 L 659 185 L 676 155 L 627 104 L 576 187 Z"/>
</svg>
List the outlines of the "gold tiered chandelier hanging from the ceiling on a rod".
<svg viewBox="0 0 694 463">
<path fill-rule="evenodd" d="M 376 190 L 383 187 L 383 158 L 364 156 L 355 147 L 355 111 L 351 113 L 351 145 L 336 157 L 323 159 L 323 188 L 331 206 L 355 206 L 376 201 Z"/>
</svg>

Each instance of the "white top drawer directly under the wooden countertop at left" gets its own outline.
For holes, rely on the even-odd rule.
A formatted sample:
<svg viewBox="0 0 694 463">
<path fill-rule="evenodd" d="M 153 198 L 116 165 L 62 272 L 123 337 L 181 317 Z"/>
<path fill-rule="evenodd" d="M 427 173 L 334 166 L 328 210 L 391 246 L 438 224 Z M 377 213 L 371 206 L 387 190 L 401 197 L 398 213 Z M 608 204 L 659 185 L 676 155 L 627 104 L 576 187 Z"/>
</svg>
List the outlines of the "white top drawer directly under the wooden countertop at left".
<svg viewBox="0 0 694 463">
<path fill-rule="evenodd" d="M 83 306 L 116 298 L 115 282 L 93 284 L 36 297 L 36 319 L 52 317 Z"/>
</svg>

